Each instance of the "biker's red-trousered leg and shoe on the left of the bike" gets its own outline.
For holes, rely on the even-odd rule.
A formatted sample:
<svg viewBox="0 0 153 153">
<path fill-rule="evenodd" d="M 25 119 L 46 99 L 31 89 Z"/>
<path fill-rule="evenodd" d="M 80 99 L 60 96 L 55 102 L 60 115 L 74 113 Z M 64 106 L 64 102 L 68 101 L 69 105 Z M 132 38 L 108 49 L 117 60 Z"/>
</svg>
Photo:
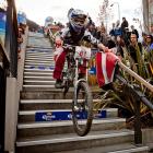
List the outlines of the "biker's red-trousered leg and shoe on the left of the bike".
<svg viewBox="0 0 153 153">
<path fill-rule="evenodd" d="M 57 80 L 55 86 L 57 89 L 63 87 L 62 84 L 62 70 L 66 61 L 67 52 L 63 50 L 56 57 L 56 64 L 54 70 L 54 78 Z"/>
</svg>

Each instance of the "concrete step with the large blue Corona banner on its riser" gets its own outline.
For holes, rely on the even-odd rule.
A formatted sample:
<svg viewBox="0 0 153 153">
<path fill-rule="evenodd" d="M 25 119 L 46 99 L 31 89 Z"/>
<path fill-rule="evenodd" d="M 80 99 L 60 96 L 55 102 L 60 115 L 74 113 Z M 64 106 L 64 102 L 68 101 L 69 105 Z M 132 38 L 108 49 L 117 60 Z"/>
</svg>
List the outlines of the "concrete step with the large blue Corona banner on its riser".
<svg viewBox="0 0 153 153">
<path fill-rule="evenodd" d="M 72 109 L 35 109 L 20 110 L 19 121 L 54 121 L 54 120 L 71 120 Z M 117 108 L 105 108 L 94 114 L 95 118 L 111 118 L 118 116 Z"/>
</svg>

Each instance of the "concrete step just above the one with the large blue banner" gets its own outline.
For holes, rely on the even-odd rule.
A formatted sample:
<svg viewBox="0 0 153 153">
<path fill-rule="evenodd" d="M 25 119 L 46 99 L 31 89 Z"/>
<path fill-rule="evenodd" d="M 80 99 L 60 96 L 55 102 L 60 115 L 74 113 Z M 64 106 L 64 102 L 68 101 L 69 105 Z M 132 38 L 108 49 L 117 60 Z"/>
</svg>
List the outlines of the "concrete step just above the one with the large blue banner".
<svg viewBox="0 0 153 153">
<path fill-rule="evenodd" d="M 101 102 L 101 99 L 93 99 L 93 103 Z M 20 110 L 35 110 L 35 109 L 71 109 L 72 99 L 21 99 Z"/>
</svg>

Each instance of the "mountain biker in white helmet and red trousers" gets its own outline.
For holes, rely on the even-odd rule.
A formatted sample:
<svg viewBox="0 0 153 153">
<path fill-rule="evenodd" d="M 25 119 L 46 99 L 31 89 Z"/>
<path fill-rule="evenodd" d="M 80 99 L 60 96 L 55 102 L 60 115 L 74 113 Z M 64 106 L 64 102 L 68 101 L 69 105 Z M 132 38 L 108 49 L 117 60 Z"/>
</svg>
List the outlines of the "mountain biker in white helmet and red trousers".
<svg viewBox="0 0 153 153">
<path fill-rule="evenodd" d="M 99 49 L 106 49 L 106 47 L 98 43 L 98 40 L 92 36 L 92 34 L 86 31 L 89 25 L 89 16 L 82 10 L 70 9 L 68 12 L 69 24 L 68 27 L 60 32 L 56 40 L 56 51 L 55 51 L 55 70 L 54 78 L 57 80 L 55 86 L 57 89 L 63 87 L 62 83 L 62 69 L 64 66 L 67 50 L 62 48 L 62 44 L 69 44 L 74 46 L 80 46 L 82 40 L 86 40 Z M 80 68 L 80 75 L 85 74 L 86 62 Z"/>
</svg>

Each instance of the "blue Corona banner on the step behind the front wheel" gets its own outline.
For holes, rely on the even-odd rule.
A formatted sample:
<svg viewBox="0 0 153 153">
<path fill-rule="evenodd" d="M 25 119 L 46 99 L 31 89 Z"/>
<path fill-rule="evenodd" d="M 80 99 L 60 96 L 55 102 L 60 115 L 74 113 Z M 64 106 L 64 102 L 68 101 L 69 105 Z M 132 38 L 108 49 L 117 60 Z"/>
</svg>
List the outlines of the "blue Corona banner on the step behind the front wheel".
<svg viewBox="0 0 153 153">
<path fill-rule="evenodd" d="M 86 119 L 87 113 L 78 113 L 79 119 Z M 97 114 L 94 114 L 94 118 L 106 118 L 106 110 L 98 110 Z M 35 121 L 52 121 L 52 120 L 71 120 L 71 111 L 37 111 L 35 114 Z"/>
</svg>

